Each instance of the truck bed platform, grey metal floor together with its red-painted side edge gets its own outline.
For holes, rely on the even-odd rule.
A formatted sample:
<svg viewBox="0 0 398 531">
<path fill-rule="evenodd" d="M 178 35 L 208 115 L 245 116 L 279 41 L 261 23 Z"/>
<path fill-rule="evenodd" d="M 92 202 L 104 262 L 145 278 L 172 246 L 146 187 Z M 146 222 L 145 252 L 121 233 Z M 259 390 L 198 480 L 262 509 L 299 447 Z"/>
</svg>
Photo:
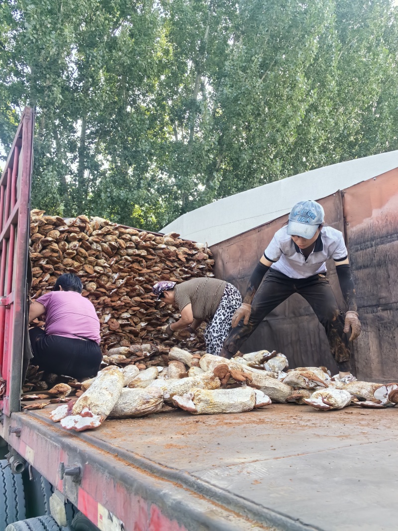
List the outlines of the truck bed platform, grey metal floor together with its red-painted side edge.
<svg viewBox="0 0 398 531">
<path fill-rule="evenodd" d="M 396 519 L 396 408 L 319 412 L 273 404 L 199 416 L 175 410 L 107 420 L 82 433 L 60 429 L 49 412 L 14 413 L 4 426 L 22 427 L 28 460 L 83 512 L 92 510 L 90 496 L 103 500 L 126 530 L 374 531 L 391 529 Z M 4 436 L 18 449 L 15 434 Z M 39 451 L 32 448 L 38 443 Z M 54 444 L 59 461 L 82 467 L 79 485 L 59 479 L 56 457 L 49 458 Z M 104 474 L 107 482 L 99 482 Z M 104 483 L 106 491 L 98 492 Z M 166 518 L 160 527 L 140 527 L 143 503 Z"/>
</svg>

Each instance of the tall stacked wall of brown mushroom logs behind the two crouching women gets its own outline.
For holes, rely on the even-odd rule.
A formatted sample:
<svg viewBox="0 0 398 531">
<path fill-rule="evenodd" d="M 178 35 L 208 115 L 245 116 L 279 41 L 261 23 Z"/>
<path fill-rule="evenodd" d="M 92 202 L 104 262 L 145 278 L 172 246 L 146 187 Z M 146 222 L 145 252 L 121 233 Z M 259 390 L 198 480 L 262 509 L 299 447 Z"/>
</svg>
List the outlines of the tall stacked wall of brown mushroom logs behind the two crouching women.
<svg viewBox="0 0 398 531">
<path fill-rule="evenodd" d="M 203 350 L 203 333 L 181 330 L 168 338 L 159 330 L 175 320 L 175 310 L 155 302 L 152 286 L 159 280 L 181 282 L 213 276 L 206 245 L 120 226 L 102 218 L 63 219 L 31 211 L 30 259 L 33 299 L 49 292 L 59 275 L 72 272 L 83 282 L 83 296 L 96 307 L 101 323 L 103 366 L 166 366 L 172 346 Z M 36 320 L 33 324 L 42 326 Z M 67 382 L 30 367 L 24 391 L 49 389 Z"/>
</svg>

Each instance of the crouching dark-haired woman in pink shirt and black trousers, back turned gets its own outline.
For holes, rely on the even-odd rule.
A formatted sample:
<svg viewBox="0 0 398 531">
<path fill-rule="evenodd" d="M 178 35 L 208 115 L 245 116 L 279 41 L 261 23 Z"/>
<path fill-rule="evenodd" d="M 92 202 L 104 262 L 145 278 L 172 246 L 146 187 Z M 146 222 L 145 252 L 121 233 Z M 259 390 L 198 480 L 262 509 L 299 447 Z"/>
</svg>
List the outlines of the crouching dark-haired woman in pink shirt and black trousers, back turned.
<svg viewBox="0 0 398 531">
<path fill-rule="evenodd" d="M 82 290 L 80 278 L 65 273 L 57 278 L 51 293 L 32 301 L 29 310 L 29 322 L 46 316 L 45 330 L 29 330 L 31 363 L 77 380 L 97 374 L 102 361 L 99 319 Z"/>
</svg>

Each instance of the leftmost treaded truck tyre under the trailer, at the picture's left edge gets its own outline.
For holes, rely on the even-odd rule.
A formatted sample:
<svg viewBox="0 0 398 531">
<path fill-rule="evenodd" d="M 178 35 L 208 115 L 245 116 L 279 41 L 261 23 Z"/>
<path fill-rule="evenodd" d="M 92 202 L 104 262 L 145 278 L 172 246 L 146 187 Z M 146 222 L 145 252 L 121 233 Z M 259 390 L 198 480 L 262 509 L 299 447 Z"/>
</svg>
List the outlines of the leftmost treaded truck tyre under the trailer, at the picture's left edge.
<svg viewBox="0 0 398 531">
<path fill-rule="evenodd" d="M 7 464 L 7 459 L 0 460 L 0 529 L 25 518 L 22 475 L 14 475 Z"/>
</svg>

